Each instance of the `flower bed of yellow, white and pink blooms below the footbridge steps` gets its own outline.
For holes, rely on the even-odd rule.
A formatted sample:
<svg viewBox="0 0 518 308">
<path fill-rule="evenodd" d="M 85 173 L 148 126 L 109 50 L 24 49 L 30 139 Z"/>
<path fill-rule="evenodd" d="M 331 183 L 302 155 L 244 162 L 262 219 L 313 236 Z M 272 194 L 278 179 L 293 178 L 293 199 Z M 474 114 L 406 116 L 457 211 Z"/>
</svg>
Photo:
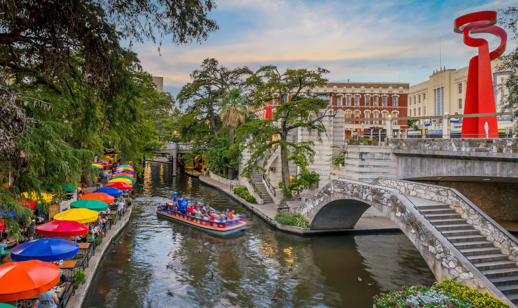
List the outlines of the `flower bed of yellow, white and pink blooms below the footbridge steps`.
<svg viewBox="0 0 518 308">
<path fill-rule="evenodd" d="M 509 308 L 487 292 L 477 291 L 454 280 L 443 280 L 431 287 L 419 284 L 374 297 L 376 308 Z"/>
</svg>

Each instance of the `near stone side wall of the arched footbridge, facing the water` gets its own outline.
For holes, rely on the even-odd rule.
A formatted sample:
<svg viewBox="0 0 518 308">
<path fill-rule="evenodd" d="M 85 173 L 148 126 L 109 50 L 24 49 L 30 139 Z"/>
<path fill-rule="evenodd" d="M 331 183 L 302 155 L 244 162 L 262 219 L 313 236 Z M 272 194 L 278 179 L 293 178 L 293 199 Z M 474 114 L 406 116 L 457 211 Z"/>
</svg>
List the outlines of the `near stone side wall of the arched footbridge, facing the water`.
<svg viewBox="0 0 518 308">
<path fill-rule="evenodd" d="M 387 181 L 383 181 L 387 180 Z M 303 206 L 296 209 L 297 213 L 304 215 L 310 223 L 318 212 L 327 204 L 337 200 L 355 200 L 375 207 L 385 216 L 389 217 L 398 228 L 403 231 L 414 246 L 421 253 L 431 271 L 438 281 L 457 277 L 457 281 L 474 289 L 489 291 L 502 301 L 513 304 L 502 294 L 473 264 L 448 241 L 395 187 L 401 187 L 409 192 L 420 191 L 426 199 L 448 200 L 448 193 L 444 191 L 434 192 L 433 197 L 426 195 L 425 184 L 419 187 L 412 182 L 381 179 L 380 184 L 393 184 L 391 187 L 376 184 L 366 184 L 349 180 L 335 180 L 323 187 L 313 198 Z M 408 184 L 411 183 L 411 184 Z M 402 184 L 402 185 L 400 185 Z M 405 187 L 406 185 L 406 187 Z M 412 188 L 410 185 L 415 185 Z M 394 188 L 393 188 L 394 187 Z M 402 189 L 401 189 L 402 190 Z M 419 197 L 419 196 L 418 196 Z M 450 198 L 451 199 L 451 198 Z M 466 208 L 466 206 L 464 205 Z M 469 209 L 466 208 L 466 211 Z M 480 224 L 482 219 L 478 219 Z M 472 221 L 473 223 L 474 221 Z M 482 226 L 482 224 L 480 224 Z M 488 226 L 487 226 L 488 227 Z M 494 228 L 493 228 L 494 230 Z M 498 231 L 494 231 L 496 235 Z M 491 240 L 494 240 L 490 238 Z M 498 235 L 499 241 L 505 241 L 503 234 Z M 518 247 L 517 247 L 518 248 Z M 508 251 L 508 253 L 510 253 Z"/>
</svg>

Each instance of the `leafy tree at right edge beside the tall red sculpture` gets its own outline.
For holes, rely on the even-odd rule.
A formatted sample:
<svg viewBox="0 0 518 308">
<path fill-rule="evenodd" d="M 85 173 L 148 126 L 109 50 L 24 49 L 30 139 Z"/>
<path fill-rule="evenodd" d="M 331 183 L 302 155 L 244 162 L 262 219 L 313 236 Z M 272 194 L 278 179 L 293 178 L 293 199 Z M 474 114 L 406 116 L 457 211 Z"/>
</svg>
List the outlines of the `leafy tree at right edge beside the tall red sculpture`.
<svg viewBox="0 0 518 308">
<path fill-rule="evenodd" d="M 518 7 L 508 7 L 499 9 L 499 23 L 510 29 L 512 36 L 509 35 L 510 39 L 518 43 Z M 508 43 L 507 46 L 510 46 Z M 502 94 L 502 101 L 504 109 L 513 110 L 512 119 L 515 123 L 514 131 L 518 130 L 518 47 L 513 50 L 507 51 L 505 55 L 500 56 L 499 64 L 497 69 L 499 70 L 510 70 L 513 73 L 507 78 L 505 83 L 500 89 L 497 89 Z"/>
</svg>

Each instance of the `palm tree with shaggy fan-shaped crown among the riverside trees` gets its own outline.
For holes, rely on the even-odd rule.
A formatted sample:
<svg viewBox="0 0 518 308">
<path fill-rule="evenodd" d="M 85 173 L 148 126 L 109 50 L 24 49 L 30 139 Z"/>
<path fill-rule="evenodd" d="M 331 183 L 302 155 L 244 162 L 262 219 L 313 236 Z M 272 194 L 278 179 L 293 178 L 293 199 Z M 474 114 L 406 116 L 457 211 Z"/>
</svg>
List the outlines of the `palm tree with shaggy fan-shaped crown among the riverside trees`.
<svg viewBox="0 0 518 308">
<path fill-rule="evenodd" d="M 244 123 L 248 114 L 247 97 L 241 95 L 240 89 L 232 89 L 223 96 L 220 118 L 224 125 L 230 127 L 230 144 L 234 143 L 234 128 Z M 234 168 L 228 168 L 228 179 L 234 179 Z"/>
</svg>

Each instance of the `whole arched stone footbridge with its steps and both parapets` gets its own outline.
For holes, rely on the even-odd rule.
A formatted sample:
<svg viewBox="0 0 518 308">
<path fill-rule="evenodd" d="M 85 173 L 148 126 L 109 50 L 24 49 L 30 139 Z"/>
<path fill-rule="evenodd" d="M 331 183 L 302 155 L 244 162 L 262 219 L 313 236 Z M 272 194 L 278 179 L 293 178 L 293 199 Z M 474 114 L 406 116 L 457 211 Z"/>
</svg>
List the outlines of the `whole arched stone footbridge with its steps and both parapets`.
<svg viewBox="0 0 518 308">
<path fill-rule="evenodd" d="M 312 229 L 352 228 L 369 207 L 391 219 L 438 281 L 457 278 L 516 307 L 518 241 L 455 189 L 379 178 L 329 182 L 296 211 Z"/>
</svg>

